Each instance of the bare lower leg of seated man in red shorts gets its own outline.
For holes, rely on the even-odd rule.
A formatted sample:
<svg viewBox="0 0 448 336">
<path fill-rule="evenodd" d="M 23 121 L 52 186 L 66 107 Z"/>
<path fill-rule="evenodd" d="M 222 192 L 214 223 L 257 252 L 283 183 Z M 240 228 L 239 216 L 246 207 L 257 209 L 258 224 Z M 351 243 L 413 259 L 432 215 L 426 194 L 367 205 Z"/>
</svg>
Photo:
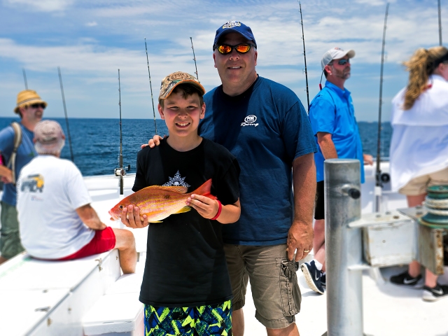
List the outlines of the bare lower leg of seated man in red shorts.
<svg viewBox="0 0 448 336">
<path fill-rule="evenodd" d="M 120 267 L 124 274 L 134 273 L 137 265 L 137 251 L 135 250 L 135 239 L 132 232 L 125 229 L 112 229 L 115 233 L 116 244 L 120 255 Z"/>
</svg>

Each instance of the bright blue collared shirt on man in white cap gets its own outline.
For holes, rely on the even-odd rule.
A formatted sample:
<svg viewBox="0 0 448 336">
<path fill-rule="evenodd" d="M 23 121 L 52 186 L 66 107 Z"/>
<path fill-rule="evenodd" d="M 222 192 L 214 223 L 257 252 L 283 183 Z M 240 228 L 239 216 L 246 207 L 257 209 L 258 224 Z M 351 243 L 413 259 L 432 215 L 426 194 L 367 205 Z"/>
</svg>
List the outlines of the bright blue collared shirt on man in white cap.
<svg viewBox="0 0 448 336">
<path fill-rule="evenodd" d="M 332 134 L 338 158 L 358 159 L 361 162 L 361 183 L 364 183 L 363 145 L 356 123 L 355 110 L 350 91 L 341 90 L 336 85 L 325 81 L 325 87 L 309 105 L 309 120 L 317 144 L 317 132 Z M 317 146 L 314 154 L 317 181 L 323 181 L 323 154 Z"/>
</svg>

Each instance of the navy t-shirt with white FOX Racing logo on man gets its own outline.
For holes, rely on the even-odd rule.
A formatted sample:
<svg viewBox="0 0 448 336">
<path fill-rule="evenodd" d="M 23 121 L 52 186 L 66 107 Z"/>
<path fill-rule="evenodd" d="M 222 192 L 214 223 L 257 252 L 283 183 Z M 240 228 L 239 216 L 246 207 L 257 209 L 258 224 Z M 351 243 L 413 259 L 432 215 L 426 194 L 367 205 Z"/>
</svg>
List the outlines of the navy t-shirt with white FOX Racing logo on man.
<svg viewBox="0 0 448 336">
<path fill-rule="evenodd" d="M 228 96 L 221 85 L 207 92 L 204 102 L 200 135 L 227 148 L 241 167 L 241 216 L 223 225 L 223 240 L 286 243 L 294 213 L 293 160 L 316 152 L 302 103 L 287 87 L 260 76 L 239 96 Z"/>
</svg>

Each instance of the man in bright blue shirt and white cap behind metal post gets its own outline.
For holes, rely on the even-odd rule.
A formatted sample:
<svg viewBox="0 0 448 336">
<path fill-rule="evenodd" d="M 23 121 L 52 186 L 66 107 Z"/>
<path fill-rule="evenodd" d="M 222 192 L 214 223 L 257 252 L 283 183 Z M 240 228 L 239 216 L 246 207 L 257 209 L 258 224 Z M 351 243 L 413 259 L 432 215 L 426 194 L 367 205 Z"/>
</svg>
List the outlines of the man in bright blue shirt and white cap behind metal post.
<svg viewBox="0 0 448 336">
<path fill-rule="evenodd" d="M 323 54 L 322 71 L 325 87 L 309 106 L 309 120 L 319 145 L 316 162 L 316 207 L 314 210 L 314 260 L 302 265 L 309 288 L 323 294 L 325 286 L 325 210 L 323 203 L 323 161 L 332 158 L 358 159 L 361 162 L 361 183 L 364 183 L 363 162 L 372 165 L 372 155 L 363 154 L 353 101 L 344 83 L 350 78 L 350 59 L 354 50 L 332 48 Z"/>
</svg>

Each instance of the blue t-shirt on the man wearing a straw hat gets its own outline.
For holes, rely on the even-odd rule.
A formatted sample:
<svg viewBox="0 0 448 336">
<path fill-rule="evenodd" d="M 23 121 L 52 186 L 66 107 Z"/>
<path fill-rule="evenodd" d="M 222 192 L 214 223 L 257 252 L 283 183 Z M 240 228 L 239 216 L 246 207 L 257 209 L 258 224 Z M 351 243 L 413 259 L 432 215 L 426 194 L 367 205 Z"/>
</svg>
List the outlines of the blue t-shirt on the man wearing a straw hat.
<svg viewBox="0 0 448 336">
<path fill-rule="evenodd" d="M 27 163 L 37 155 L 33 144 L 34 132 L 27 130 L 22 124 L 19 125 L 22 128 L 22 142 L 18 148 L 17 155 L 15 155 L 15 179 L 18 179 L 22 167 L 27 165 Z M 12 126 L 8 126 L 0 131 L 0 153 L 5 159 L 3 165 L 8 165 L 13 149 L 14 129 Z M 17 202 L 17 190 L 15 190 L 15 185 L 13 183 L 6 183 L 3 186 L 3 196 L 1 197 L 1 200 L 15 207 Z"/>
</svg>

